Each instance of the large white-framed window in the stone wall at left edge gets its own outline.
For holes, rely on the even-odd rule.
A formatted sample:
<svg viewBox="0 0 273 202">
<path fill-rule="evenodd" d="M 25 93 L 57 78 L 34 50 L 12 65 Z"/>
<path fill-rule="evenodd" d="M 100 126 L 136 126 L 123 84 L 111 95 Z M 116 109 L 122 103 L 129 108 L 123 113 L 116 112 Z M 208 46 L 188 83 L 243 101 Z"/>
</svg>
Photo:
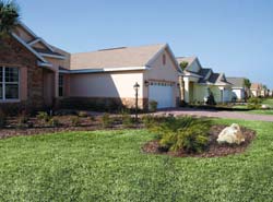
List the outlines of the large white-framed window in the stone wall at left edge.
<svg viewBox="0 0 273 202">
<path fill-rule="evenodd" d="M 19 99 L 19 69 L 0 67 L 0 100 Z"/>
</svg>

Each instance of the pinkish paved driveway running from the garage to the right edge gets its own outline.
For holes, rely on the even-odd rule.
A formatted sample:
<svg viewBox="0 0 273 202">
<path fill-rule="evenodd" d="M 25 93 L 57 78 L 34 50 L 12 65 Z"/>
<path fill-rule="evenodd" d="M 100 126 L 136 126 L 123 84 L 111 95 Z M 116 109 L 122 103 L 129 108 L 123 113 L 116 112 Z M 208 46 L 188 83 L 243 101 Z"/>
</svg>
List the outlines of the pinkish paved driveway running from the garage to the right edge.
<svg viewBox="0 0 273 202">
<path fill-rule="evenodd" d="M 192 108 L 178 108 L 168 109 L 156 112 L 162 114 L 173 114 L 175 116 L 189 115 L 197 117 L 213 117 L 213 118 L 228 118 L 228 119 L 245 119 L 245 120 L 258 120 L 258 121 L 269 121 L 273 122 L 273 116 L 271 115 L 253 115 L 247 112 L 238 111 L 218 111 L 218 110 L 203 110 L 203 109 L 192 109 Z"/>
</svg>

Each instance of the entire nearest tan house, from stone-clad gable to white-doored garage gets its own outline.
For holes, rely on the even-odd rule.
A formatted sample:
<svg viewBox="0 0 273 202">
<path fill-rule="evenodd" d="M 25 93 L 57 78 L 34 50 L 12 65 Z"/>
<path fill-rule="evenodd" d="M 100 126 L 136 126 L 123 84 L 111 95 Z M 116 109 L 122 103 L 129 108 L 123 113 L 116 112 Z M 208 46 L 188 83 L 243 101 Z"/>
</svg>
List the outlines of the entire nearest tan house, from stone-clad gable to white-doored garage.
<svg viewBox="0 0 273 202">
<path fill-rule="evenodd" d="M 176 107 L 180 68 L 166 44 L 69 54 L 22 22 L 0 47 L 0 106 L 39 109 L 55 103 Z"/>
</svg>

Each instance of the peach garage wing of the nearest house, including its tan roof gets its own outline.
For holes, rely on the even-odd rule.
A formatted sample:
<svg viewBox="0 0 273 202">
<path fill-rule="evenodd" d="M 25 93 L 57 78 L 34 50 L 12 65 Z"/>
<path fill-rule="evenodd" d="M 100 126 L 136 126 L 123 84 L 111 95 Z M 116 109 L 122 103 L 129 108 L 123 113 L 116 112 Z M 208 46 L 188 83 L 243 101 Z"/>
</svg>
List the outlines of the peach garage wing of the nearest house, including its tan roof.
<svg viewBox="0 0 273 202">
<path fill-rule="evenodd" d="M 138 83 L 140 108 L 147 108 L 150 100 L 158 108 L 177 106 L 181 71 L 166 44 L 72 54 L 70 60 L 70 68 L 59 71 L 69 78 L 64 102 L 134 107 Z"/>
</svg>

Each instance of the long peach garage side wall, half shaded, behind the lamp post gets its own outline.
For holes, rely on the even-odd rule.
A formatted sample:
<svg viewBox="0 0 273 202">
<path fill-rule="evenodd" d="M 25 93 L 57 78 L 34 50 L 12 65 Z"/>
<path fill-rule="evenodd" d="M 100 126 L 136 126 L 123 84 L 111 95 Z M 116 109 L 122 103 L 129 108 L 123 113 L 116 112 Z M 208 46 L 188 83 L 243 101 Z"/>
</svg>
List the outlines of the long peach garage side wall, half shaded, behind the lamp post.
<svg viewBox="0 0 273 202">
<path fill-rule="evenodd" d="M 133 85 L 140 84 L 139 98 L 143 98 L 143 72 L 116 72 L 70 75 L 70 97 L 116 99 L 127 106 L 134 105 Z M 140 104 L 140 107 L 142 104 Z"/>
</svg>

